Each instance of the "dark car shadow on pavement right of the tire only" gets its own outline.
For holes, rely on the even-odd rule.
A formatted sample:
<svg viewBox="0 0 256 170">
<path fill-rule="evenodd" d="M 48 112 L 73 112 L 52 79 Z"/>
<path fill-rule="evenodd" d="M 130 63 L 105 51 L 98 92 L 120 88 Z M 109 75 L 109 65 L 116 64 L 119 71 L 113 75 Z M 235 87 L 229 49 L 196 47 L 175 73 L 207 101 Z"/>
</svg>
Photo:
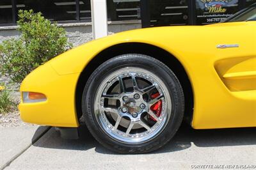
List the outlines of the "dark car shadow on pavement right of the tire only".
<svg viewBox="0 0 256 170">
<path fill-rule="evenodd" d="M 170 143 L 155 153 L 175 151 L 174 148 L 256 145 L 256 128 L 221 128 L 195 130 L 183 124 Z"/>
</svg>

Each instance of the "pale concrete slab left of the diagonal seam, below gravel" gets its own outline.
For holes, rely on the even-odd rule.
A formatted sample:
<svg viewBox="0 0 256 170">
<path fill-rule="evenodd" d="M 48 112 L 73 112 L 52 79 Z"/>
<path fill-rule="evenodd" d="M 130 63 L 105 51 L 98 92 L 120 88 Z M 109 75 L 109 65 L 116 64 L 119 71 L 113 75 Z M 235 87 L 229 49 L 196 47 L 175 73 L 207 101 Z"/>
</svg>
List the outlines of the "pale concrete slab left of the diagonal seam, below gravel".
<svg viewBox="0 0 256 170">
<path fill-rule="evenodd" d="M 0 127 L 0 169 L 19 157 L 47 130 L 49 127 Z"/>
</svg>

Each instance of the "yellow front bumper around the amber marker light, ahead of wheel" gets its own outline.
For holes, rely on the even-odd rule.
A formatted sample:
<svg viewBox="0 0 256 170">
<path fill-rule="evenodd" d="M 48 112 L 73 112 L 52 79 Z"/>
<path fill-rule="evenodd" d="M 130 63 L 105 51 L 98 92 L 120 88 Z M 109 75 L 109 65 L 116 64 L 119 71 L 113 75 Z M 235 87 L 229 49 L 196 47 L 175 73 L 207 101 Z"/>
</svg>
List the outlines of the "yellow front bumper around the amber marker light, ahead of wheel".
<svg viewBox="0 0 256 170">
<path fill-rule="evenodd" d="M 76 114 L 76 84 L 80 73 L 59 75 L 50 63 L 24 79 L 20 91 L 43 93 L 45 102 L 19 105 L 20 117 L 28 123 L 54 127 L 79 127 Z"/>
</svg>

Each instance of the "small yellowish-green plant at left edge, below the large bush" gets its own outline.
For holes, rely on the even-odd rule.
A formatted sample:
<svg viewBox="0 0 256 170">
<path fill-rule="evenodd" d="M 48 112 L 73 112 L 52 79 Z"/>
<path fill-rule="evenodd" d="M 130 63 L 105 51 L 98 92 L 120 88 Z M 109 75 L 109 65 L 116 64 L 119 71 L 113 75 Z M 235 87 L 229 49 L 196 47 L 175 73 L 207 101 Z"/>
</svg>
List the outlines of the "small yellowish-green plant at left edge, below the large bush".
<svg viewBox="0 0 256 170">
<path fill-rule="evenodd" d="M 10 91 L 0 86 L 0 113 L 13 111 L 14 108 L 15 102 L 13 102 Z"/>
</svg>

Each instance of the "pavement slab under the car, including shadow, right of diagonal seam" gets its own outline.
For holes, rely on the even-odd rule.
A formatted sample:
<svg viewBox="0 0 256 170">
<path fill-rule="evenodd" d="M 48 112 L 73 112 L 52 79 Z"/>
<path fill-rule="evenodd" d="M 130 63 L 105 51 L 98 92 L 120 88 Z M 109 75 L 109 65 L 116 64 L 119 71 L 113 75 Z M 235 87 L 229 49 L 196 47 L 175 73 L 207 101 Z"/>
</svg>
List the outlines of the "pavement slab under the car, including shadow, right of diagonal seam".
<svg viewBox="0 0 256 170">
<path fill-rule="evenodd" d="M 203 166 L 256 169 L 256 128 L 193 130 L 182 125 L 164 148 L 141 155 L 106 150 L 86 128 L 77 140 L 61 139 L 51 128 L 5 169 L 204 169 Z"/>
</svg>

